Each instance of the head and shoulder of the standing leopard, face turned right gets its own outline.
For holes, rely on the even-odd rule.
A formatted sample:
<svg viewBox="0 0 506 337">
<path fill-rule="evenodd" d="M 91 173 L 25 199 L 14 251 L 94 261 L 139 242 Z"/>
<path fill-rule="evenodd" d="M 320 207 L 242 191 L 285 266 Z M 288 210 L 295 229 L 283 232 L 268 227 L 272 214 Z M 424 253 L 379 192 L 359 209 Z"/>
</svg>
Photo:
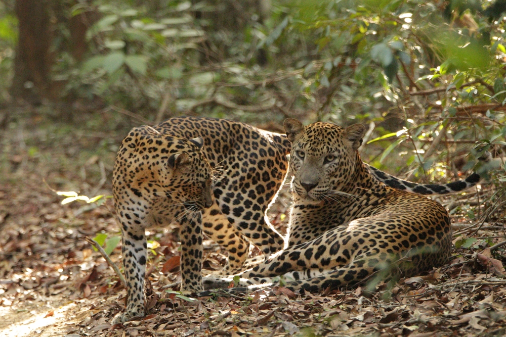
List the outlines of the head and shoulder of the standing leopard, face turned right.
<svg viewBox="0 0 506 337">
<path fill-rule="evenodd" d="M 168 198 L 202 210 L 213 203 L 211 168 L 202 146 L 201 137 L 185 139 L 137 127 L 123 140 L 115 171 L 128 175 L 125 180 L 138 197 Z"/>
</svg>

